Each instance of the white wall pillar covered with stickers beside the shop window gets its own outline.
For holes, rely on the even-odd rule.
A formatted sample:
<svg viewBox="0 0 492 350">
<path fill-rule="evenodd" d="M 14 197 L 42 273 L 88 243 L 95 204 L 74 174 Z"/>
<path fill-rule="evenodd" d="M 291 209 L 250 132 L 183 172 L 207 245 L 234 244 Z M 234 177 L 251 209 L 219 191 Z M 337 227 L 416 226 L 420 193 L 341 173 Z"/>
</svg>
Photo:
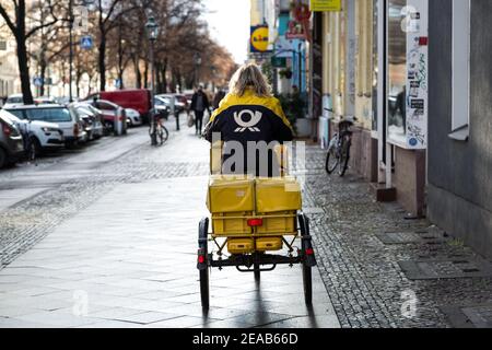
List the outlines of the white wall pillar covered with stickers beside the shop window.
<svg viewBox="0 0 492 350">
<path fill-rule="evenodd" d="M 422 150 L 427 147 L 427 0 L 409 0 L 406 16 L 407 147 Z"/>
</svg>

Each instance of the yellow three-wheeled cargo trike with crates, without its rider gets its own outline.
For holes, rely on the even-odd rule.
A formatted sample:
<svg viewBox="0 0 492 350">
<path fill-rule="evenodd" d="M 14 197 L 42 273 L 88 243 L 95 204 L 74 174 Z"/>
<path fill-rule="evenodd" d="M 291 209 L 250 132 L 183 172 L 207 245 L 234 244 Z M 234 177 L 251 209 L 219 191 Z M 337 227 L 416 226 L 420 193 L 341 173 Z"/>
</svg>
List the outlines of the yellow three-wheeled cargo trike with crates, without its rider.
<svg viewBox="0 0 492 350">
<path fill-rule="evenodd" d="M 222 175 L 222 149 L 211 149 L 207 198 L 211 220 L 202 219 L 198 231 L 197 267 L 203 308 L 210 304 L 209 269 L 224 267 L 251 272 L 259 281 L 261 272 L 272 271 L 278 265 L 302 264 L 304 299 L 306 304 L 312 303 L 316 259 L 309 220 L 302 212 L 301 185 L 286 175 L 285 148 L 279 147 L 276 152 L 281 176 L 261 178 Z"/>
</svg>

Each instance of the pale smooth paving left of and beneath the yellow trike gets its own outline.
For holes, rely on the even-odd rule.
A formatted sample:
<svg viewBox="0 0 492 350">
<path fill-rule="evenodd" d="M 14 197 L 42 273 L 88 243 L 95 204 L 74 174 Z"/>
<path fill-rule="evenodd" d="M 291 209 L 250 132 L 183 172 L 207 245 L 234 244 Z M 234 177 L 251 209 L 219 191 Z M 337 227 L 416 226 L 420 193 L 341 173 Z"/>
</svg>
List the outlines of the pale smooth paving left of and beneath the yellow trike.
<svg viewBox="0 0 492 350">
<path fill-rule="evenodd" d="M 186 129 L 153 149 L 134 132 L 118 141 L 132 152 L 103 144 L 0 179 L 0 195 L 14 180 L 26 197 L 9 192 L 0 213 L 0 327 L 339 327 L 317 270 L 305 306 L 298 266 L 260 284 L 212 270 L 204 315 L 196 252 L 208 144 Z"/>
</svg>

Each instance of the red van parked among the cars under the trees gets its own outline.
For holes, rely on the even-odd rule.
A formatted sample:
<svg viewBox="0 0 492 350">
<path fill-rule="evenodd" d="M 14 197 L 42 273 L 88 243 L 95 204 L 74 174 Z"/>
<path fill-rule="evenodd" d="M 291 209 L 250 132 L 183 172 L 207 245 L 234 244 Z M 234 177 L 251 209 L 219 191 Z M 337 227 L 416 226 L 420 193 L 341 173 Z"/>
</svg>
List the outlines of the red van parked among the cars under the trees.
<svg viewBox="0 0 492 350">
<path fill-rule="evenodd" d="M 143 122 L 149 121 L 152 109 L 152 95 L 147 89 L 105 91 L 90 95 L 85 101 L 109 101 L 124 108 L 132 108 L 140 113 Z"/>
</svg>

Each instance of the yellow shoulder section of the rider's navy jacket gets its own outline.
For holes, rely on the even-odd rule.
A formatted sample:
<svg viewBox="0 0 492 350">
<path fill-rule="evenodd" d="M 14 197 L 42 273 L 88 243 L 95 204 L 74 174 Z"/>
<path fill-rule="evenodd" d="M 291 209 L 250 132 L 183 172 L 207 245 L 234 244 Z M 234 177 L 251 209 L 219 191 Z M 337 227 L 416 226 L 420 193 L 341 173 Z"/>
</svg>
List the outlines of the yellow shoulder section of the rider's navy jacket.
<svg viewBox="0 0 492 350">
<path fill-rule="evenodd" d="M 273 96 L 270 97 L 260 97 L 255 95 L 251 92 L 246 92 L 243 96 L 237 96 L 233 94 L 227 94 L 220 103 L 219 108 L 215 109 L 210 117 L 210 121 L 213 120 L 224 110 L 233 107 L 233 106 L 262 106 L 265 108 L 270 109 L 276 116 L 282 119 L 282 121 L 292 129 L 291 122 L 285 117 L 283 113 L 280 101 Z"/>
</svg>

